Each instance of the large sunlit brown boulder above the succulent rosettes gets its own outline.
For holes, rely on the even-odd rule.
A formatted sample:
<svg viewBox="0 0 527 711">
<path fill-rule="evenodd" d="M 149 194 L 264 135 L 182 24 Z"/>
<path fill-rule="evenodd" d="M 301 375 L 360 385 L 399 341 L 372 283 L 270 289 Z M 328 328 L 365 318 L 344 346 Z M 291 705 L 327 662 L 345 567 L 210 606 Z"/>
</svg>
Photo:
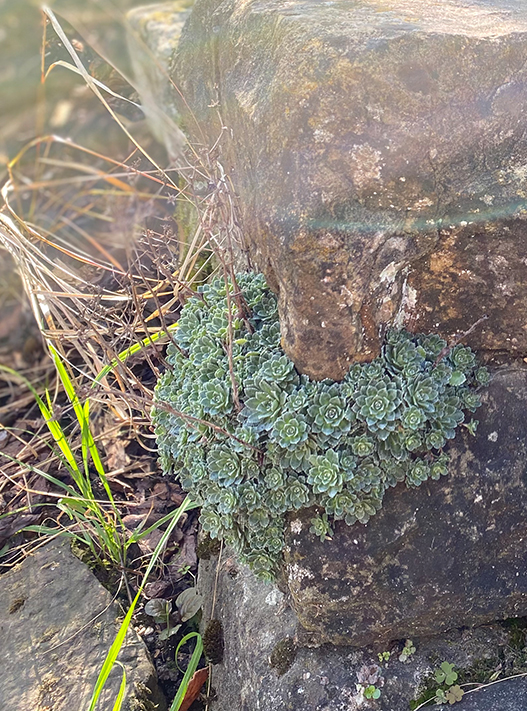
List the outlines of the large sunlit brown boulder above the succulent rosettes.
<svg viewBox="0 0 527 711">
<path fill-rule="evenodd" d="M 527 350 L 527 3 L 197 0 L 172 77 L 301 370 L 484 313 L 470 345 Z"/>
</svg>

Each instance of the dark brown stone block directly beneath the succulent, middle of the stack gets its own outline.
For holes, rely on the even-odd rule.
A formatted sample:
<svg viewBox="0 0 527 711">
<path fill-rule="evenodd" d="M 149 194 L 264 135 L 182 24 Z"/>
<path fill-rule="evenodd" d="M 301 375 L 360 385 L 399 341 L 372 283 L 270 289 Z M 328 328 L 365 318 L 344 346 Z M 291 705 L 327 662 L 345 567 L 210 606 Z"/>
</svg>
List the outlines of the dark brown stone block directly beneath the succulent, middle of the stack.
<svg viewBox="0 0 527 711">
<path fill-rule="evenodd" d="M 331 541 L 308 511 L 287 533 L 288 584 L 310 642 L 362 646 L 527 614 L 527 369 L 497 372 L 450 474 L 398 486 Z"/>
</svg>

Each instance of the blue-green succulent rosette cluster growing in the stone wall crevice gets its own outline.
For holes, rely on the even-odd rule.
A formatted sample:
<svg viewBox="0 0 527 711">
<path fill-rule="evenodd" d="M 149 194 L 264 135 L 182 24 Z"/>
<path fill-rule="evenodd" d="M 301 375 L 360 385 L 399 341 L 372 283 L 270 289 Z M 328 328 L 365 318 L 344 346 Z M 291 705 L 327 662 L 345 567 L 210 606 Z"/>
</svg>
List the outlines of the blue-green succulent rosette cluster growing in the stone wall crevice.
<svg viewBox="0 0 527 711">
<path fill-rule="evenodd" d="M 311 530 L 324 538 L 335 520 L 367 523 L 390 486 L 446 475 L 444 447 L 462 424 L 474 433 L 490 378 L 470 348 L 394 330 L 342 382 L 311 381 L 280 346 L 263 276 L 237 286 L 247 320 L 223 280 L 185 304 L 153 422 L 161 466 L 201 504 L 203 529 L 272 578 L 288 512 L 316 505 Z"/>
</svg>

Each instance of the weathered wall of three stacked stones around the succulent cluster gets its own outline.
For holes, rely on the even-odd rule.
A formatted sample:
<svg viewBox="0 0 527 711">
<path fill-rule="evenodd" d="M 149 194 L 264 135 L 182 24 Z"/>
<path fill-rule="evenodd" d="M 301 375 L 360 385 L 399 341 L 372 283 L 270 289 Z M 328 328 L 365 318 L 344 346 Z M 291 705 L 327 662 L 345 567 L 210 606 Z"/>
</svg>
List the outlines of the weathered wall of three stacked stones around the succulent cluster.
<svg viewBox="0 0 527 711">
<path fill-rule="evenodd" d="M 163 56 L 187 135 L 216 145 L 239 196 L 300 370 L 339 379 L 386 325 L 450 338 L 483 315 L 469 345 L 527 352 L 527 3 L 197 0 Z M 357 670 L 390 640 L 527 614 L 527 370 L 497 373 L 484 397 L 449 477 L 396 487 L 324 543 L 309 512 L 293 517 L 282 592 L 230 557 L 219 577 L 200 566 L 205 621 L 225 629 L 220 707 L 358 709 Z M 434 657 L 471 663 L 448 634 L 420 642 L 377 708 L 406 708 Z M 493 647 L 486 628 L 466 634 L 482 635 L 476 657 Z M 283 638 L 299 648 L 278 678 Z M 460 708 L 524 697 L 504 685 Z"/>
</svg>

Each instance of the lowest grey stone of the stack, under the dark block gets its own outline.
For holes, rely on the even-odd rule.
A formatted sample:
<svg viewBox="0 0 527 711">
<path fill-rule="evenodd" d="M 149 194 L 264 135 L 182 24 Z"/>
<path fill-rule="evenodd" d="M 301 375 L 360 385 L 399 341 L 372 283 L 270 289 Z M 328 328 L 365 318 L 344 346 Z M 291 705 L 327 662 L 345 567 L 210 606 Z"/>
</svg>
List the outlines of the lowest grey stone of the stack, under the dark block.
<svg viewBox="0 0 527 711">
<path fill-rule="evenodd" d="M 216 570 L 217 559 L 201 561 L 198 578 L 205 600 L 203 628 L 211 619 L 215 599 L 213 617 L 222 622 L 225 638 L 223 663 L 212 668 L 217 701 L 211 711 L 407 711 L 410 700 L 420 697 L 442 661 L 465 670 L 467 680 L 474 680 L 475 670 L 481 672 L 483 667 L 489 675 L 498 667 L 504 673 L 515 671 L 509 666 L 514 652 L 508 646 L 508 633 L 489 626 L 435 639 L 414 638 L 417 651 L 404 664 L 397 659 L 402 642 L 373 649 L 299 646 L 291 667 L 278 676 L 269 665 L 276 645 L 286 638 L 301 643 L 287 598 L 276 586 L 239 566 L 228 552 L 222 556 L 218 577 Z M 368 703 L 357 691 L 357 673 L 363 665 L 378 663 L 377 653 L 384 650 L 393 656 L 383 666 L 382 695 Z M 526 693 L 527 682 L 519 679 L 473 693 L 456 709 L 524 711 Z"/>
</svg>

